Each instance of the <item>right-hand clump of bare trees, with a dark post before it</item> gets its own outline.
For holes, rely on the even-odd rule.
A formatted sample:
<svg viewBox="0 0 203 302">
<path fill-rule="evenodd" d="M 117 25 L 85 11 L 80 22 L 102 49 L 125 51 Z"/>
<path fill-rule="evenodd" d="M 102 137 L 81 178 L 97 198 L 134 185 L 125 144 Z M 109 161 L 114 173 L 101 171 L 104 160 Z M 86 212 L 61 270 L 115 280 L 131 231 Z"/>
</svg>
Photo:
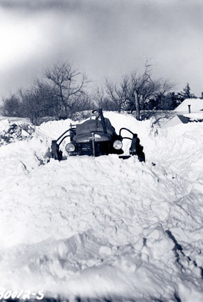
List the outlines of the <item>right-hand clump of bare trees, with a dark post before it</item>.
<svg viewBox="0 0 203 302">
<path fill-rule="evenodd" d="M 105 89 L 97 89 L 95 98 L 99 106 L 119 112 L 135 111 L 137 120 L 142 120 L 149 117 L 149 110 L 152 114 L 153 110 L 160 109 L 161 103 L 164 107 L 163 100 L 174 87 L 174 82 L 168 79 L 153 79 L 151 65 L 146 64 L 142 73 L 132 71 L 130 75 L 124 75 L 119 83 L 106 79 Z M 152 105 L 154 99 L 159 100 L 159 106 Z"/>
</svg>

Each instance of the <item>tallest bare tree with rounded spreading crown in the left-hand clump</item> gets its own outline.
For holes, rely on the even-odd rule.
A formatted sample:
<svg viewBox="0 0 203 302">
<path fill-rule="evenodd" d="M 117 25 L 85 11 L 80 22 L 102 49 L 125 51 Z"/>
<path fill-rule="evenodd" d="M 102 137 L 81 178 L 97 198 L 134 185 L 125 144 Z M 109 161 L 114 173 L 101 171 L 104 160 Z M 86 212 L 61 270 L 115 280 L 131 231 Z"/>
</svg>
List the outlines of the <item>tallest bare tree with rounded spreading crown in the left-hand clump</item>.
<svg viewBox="0 0 203 302">
<path fill-rule="evenodd" d="M 55 64 L 46 69 L 45 78 L 52 82 L 55 93 L 60 100 L 60 111 L 63 117 L 70 117 L 81 97 L 84 97 L 87 75 L 73 69 L 69 63 Z"/>
</svg>

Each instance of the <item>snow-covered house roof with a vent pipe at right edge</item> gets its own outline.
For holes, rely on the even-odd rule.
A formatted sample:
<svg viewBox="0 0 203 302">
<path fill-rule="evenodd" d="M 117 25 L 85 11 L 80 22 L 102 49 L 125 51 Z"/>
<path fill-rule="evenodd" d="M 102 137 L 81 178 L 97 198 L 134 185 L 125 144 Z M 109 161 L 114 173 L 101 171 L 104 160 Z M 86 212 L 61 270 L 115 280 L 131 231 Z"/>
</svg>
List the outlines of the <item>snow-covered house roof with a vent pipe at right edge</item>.
<svg viewBox="0 0 203 302">
<path fill-rule="evenodd" d="M 174 110 L 174 116 L 161 127 L 167 128 L 188 122 L 203 122 L 203 93 L 200 99 L 185 99 Z"/>
</svg>

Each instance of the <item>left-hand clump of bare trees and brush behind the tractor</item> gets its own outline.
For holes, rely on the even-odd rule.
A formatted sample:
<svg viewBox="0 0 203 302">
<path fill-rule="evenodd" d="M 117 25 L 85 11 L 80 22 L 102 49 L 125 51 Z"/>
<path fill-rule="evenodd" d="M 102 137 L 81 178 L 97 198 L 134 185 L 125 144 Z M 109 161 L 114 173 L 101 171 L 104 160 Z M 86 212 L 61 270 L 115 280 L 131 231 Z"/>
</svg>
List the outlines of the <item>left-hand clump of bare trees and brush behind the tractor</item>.
<svg viewBox="0 0 203 302">
<path fill-rule="evenodd" d="M 73 117 L 77 111 L 91 108 L 87 92 L 87 75 L 69 63 L 54 64 L 43 71 L 43 80 L 36 79 L 29 89 L 3 98 L 1 112 L 6 116 L 29 117 L 40 124 L 42 117 Z"/>
</svg>

